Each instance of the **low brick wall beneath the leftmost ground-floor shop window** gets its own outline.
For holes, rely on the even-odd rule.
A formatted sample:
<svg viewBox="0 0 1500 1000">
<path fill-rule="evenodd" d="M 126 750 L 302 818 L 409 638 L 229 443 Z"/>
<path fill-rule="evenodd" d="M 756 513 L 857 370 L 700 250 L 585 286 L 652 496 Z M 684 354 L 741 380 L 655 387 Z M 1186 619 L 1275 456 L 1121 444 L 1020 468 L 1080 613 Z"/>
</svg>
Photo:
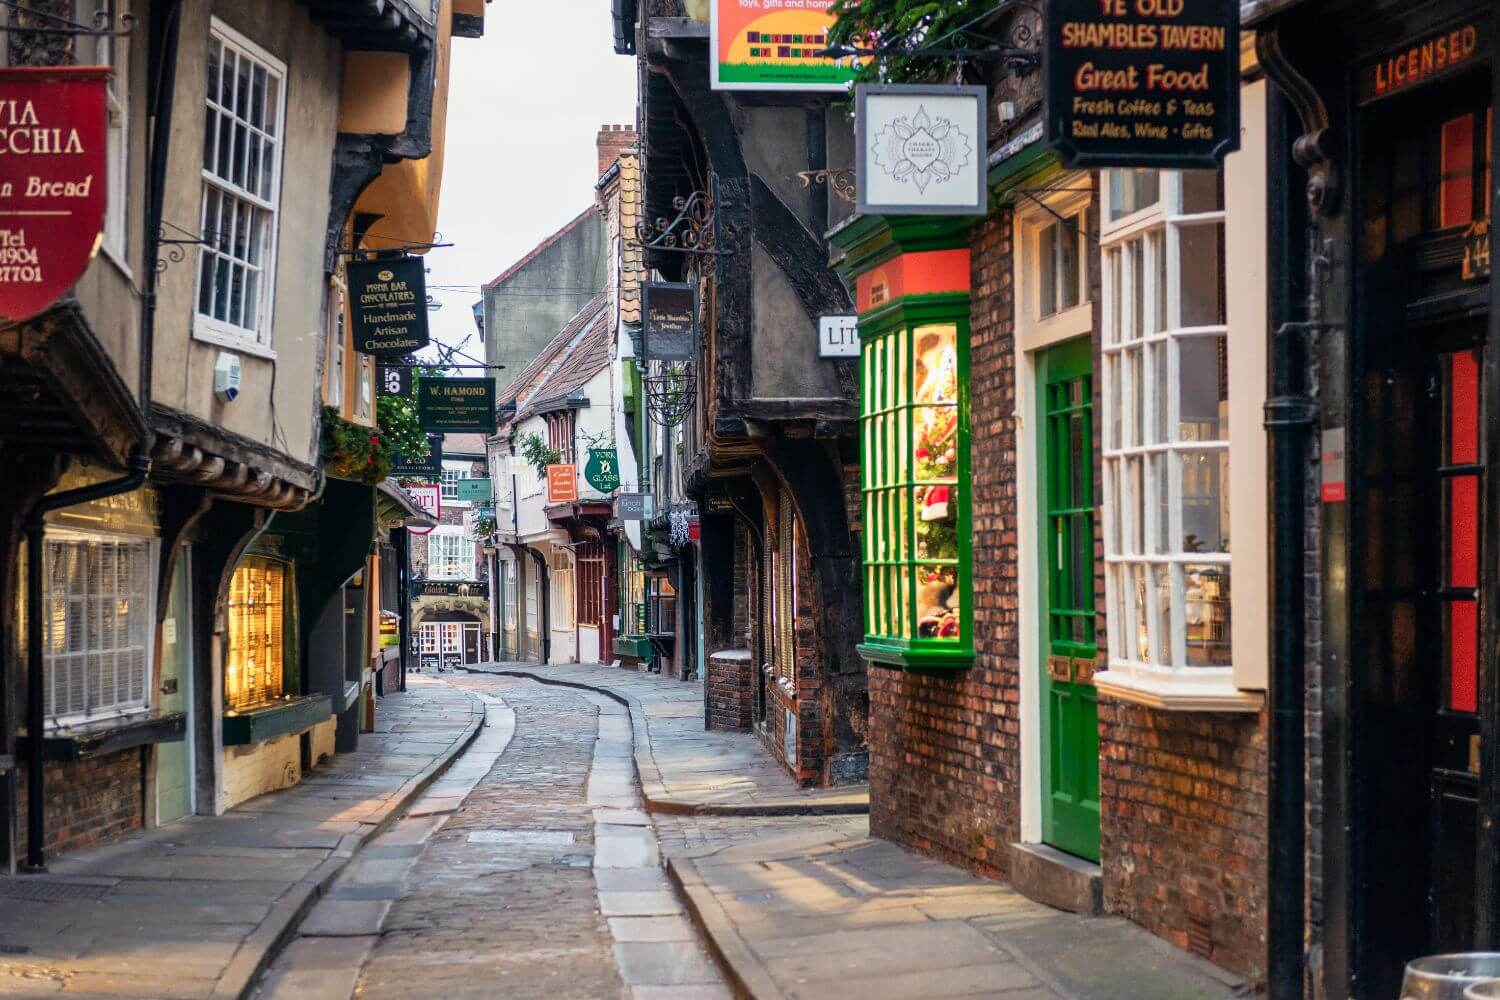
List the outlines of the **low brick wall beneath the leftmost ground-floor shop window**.
<svg viewBox="0 0 1500 1000">
<path fill-rule="evenodd" d="M 140 829 L 146 822 L 141 798 L 141 751 L 122 750 L 90 760 L 50 762 L 42 774 L 46 792 L 46 850 L 60 853 L 102 844 Z M 18 769 L 18 849 L 26 850 L 27 769 Z"/>
</svg>

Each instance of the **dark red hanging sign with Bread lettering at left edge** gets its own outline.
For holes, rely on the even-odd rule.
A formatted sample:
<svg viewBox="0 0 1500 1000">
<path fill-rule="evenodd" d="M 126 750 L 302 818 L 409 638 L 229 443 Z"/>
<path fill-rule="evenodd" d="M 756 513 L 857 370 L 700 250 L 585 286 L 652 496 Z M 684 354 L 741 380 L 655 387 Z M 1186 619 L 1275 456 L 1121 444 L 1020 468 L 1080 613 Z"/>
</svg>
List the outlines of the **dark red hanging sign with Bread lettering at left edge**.
<svg viewBox="0 0 1500 1000">
<path fill-rule="evenodd" d="M 0 318 L 63 297 L 99 249 L 108 66 L 0 69 Z"/>
</svg>

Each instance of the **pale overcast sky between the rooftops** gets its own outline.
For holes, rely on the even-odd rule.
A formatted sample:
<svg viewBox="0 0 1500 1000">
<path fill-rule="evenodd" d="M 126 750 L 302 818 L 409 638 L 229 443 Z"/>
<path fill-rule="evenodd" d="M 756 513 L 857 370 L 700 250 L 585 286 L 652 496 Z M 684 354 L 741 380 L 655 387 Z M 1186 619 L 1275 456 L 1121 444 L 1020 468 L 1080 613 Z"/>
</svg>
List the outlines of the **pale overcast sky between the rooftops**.
<svg viewBox="0 0 1500 1000">
<path fill-rule="evenodd" d="M 636 63 L 615 54 L 608 0 L 484 12 L 484 37 L 453 39 L 438 231 L 454 246 L 428 253 L 446 343 L 474 333 L 478 285 L 594 202 L 598 126 L 636 115 Z M 477 336 L 465 351 L 483 357 Z"/>
</svg>

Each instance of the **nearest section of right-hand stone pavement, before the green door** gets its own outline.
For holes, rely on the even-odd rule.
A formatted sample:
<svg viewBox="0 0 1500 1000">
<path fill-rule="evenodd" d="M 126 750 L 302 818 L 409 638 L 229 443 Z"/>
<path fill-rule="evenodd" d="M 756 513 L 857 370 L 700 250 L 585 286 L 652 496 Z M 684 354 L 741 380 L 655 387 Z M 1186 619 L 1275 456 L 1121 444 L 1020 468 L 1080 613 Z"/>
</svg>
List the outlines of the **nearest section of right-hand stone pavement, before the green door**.
<svg viewBox="0 0 1500 1000">
<path fill-rule="evenodd" d="M 724 829 L 704 829 L 716 823 Z M 693 817 L 686 840 L 696 846 L 664 832 L 662 843 L 680 846 L 668 874 L 740 996 L 1210 1000 L 1251 993 L 1232 973 L 1128 921 L 1053 910 L 874 840 L 866 817 L 780 822 L 748 838 L 728 823 Z"/>
</svg>

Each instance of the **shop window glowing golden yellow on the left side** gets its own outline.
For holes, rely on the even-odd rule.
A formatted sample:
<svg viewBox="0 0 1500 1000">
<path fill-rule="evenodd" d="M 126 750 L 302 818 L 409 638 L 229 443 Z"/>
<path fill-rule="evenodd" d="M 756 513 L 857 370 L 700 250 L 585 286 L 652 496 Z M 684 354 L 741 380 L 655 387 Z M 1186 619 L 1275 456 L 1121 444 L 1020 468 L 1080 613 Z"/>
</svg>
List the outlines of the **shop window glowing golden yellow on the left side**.
<svg viewBox="0 0 1500 1000">
<path fill-rule="evenodd" d="M 230 580 L 225 708 L 252 711 L 285 694 L 286 564 L 246 556 Z"/>
</svg>

